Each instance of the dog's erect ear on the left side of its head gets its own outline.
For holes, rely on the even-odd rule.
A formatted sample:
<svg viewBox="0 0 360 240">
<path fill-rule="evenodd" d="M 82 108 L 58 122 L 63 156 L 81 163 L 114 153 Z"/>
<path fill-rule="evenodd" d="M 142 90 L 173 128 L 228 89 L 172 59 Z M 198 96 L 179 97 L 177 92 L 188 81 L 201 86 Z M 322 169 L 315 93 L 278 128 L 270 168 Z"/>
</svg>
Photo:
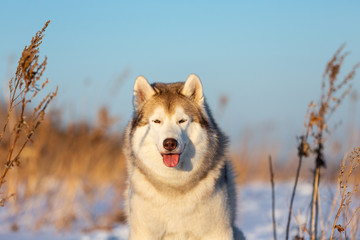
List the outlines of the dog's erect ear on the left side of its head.
<svg viewBox="0 0 360 240">
<path fill-rule="evenodd" d="M 154 89 L 148 83 L 146 78 L 139 76 L 135 80 L 134 85 L 134 108 L 137 110 L 139 106 L 145 103 L 152 95 L 155 94 Z"/>
</svg>

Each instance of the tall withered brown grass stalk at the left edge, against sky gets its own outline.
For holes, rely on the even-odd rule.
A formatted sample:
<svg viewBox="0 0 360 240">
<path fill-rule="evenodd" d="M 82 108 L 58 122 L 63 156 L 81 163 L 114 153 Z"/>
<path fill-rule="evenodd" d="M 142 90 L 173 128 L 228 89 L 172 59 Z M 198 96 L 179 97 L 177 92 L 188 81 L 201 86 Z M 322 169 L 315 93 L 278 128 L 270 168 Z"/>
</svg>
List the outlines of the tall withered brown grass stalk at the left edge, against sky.
<svg viewBox="0 0 360 240">
<path fill-rule="evenodd" d="M 8 101 L 7 116 L 0 134 L 1 142 L 5 133 L 9 131 L 9 150 L 0 177 L 0 189 L 5 183 L 8 171 L 14 166 L 19 166 L 22 151 L 44 119 L 45 110 L 49 103 L 57 94 L 57 88 L 54 92 L 49 92 L 33 109 L 32 113 L 27 114 L 28 104 L 49 83 L 48 79 L 41 82 L 47 58 L 45 57 L 42 62 L 39 62 L 39 46 L 49 23 L 50 21 L 47 21 L 44 27 L 32 38 L 30 45 L 25 46 L 18 62 L 15 77 L 9 81 L 10 99 Z M 15 116 L 16 122 L 13 128 L 8 130 L 9 120 L 12 115 Z M 1 198 L 2 205 L 6 199 L 8 199 L 8 196 Z"/>
</svg>

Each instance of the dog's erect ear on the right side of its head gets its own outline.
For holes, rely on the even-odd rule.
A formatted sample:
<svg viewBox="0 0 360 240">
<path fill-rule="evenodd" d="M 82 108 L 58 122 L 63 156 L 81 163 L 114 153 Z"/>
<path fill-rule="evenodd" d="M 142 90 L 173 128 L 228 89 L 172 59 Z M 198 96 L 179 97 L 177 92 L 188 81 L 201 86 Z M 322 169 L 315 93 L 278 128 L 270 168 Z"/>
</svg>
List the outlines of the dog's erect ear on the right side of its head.
<svg viewBox="0 0 360 240">
<path fill-rule="evenodd" d="M 202 84 L 199 77 L 195 74 L 190 74 L 181 90 L 181 94 L 187 96 L 199 105 L 204 104 Z"/>
</svg>

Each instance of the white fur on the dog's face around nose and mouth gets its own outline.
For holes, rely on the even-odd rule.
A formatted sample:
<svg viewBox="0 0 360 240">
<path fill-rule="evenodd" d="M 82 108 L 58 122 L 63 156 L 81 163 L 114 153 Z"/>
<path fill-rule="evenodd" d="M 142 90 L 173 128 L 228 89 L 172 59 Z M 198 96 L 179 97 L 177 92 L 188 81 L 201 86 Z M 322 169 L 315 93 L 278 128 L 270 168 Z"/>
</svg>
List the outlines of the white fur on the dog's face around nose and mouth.
<svg viewBox="0 0 360 240">
<path fill-rule="evenodd" d="M 152 120 L 160 120 L 160 124 Z M 187 119 L 179 124 L 180 119 Z M 161 153 L 165 151 L 163 141 L 166 138 L 174 138 L 178 141 L 176 152 L 181 153 L 180 162 L 174 168 L 164 165 Z M 207 134 L 200 124 L 191 122 L 189 116 L 181 107 L 177 107 L 174 115 L 166 115 L 164 109 L 159 107 L 149 119 L 149 124 L 136 129 L 132 147 L 137 158 L 142 159 L 146 167 L 152 169 L 159 178 L 173 183 L 182 184 L 181 179 L 186 179 L 191 174 L 190 168 L 195 170 L 198 162 L 207 149 Z M 190 147 L 190 143 L 197 146 L 197 151 Z M 192 156 L 190 158 L 190 156 Z M 190 159 L 189 159 L 190 158 Z M 184 161 L 189 159 L 189 161 Z M 184 170 L 184 171 L 178 171 Z"/>
</svg>

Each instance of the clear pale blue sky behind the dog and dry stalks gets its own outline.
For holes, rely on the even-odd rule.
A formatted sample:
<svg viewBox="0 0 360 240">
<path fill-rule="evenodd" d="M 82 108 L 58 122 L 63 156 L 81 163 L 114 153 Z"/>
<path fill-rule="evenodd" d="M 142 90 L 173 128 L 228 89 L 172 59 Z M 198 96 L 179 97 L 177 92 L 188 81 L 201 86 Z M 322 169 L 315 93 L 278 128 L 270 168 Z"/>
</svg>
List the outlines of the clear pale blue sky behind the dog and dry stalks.
<svg viewBox="0 0 360 240">
<path fill-rule="evenodd" d="M 270 126 L 295 141 L 333 53 L 346 43 L 344 70 L 360 61 L 359 10 L 359 1 L 1 0 L 0 94 L 49 19 L 40 54 L 67 118 L 92 121 L 108 106 L 125 123 L 136 76 L 172 82 L 196 73 L 232 139 Z M 229 102 L 219 112 L 223 95 Z"/>
</svg>

